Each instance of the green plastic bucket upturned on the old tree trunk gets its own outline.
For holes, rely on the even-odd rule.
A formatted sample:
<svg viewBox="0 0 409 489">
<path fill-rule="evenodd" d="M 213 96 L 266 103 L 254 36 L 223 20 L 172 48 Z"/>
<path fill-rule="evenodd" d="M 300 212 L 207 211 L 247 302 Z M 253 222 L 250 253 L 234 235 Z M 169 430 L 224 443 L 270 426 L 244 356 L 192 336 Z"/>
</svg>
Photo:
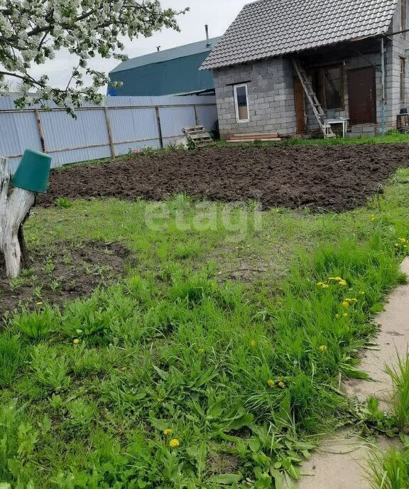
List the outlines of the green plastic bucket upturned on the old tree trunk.
<svg viewBox="0 0 409 489">
<path fill-rule="evenodd" d="M 50 166 L 51 156 L 26 149 L 11 182 L 18 188 L 45 193 L 50 176 Z"/>
</svg>

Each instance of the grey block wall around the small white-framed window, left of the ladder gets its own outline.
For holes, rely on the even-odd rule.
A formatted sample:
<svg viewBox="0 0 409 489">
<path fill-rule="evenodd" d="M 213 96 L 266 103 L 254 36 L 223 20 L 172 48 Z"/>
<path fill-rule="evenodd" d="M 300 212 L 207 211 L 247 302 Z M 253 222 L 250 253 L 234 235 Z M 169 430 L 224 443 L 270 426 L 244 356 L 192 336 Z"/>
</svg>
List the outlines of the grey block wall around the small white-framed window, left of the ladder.
<svg viewBox="0 0 409 489">
<path fill-rule="evenodd" d="M 237 122 L 233 85 L 249 82 L 249 122 Z M 214 70 L 222 139 L 233 134 L 295 132 L 294 87 L 288 60 L 271 60 Z"/>
</svg>

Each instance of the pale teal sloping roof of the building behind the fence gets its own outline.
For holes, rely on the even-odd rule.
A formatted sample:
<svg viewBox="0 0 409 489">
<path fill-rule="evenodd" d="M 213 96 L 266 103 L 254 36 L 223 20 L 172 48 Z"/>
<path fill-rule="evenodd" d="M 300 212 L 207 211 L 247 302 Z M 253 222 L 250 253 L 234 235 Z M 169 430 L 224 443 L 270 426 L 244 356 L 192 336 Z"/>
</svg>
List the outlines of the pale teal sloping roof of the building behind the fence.
<svg viewBox="0 0 409 489">
<path fill-rule="evenodd" d="M 120 63 L 111 71 L 111 73 L 132 70 L 133 68 L 153 65 L 155 63 L 163 63 L 164 61 L 175 60 L 177 58 L 185 58 L 185 56 L 207 53 L 214 48 L 214 45 L 216 45 L 220 39 L 221 38 L 212 38 L 209 39 L 209 41 L 205 40 L 197 43 L 185 44 L 178 46 L 178 48 L 165 49 L 163 51 L 156 51 L 155 53 L 131 58 Z"/>
</svg>

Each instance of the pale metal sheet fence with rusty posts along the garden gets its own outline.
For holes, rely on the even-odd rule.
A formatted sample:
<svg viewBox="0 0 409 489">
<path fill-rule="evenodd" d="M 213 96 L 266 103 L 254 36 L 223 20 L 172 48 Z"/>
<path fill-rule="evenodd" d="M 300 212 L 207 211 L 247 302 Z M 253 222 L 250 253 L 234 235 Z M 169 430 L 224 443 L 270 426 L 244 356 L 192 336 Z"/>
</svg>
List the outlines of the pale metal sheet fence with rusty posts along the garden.
<svg viewBox="0 0 409 489">
<path fill-rule="evenodd" d="M 25 149 L 52 156 L 52 166 L 115 157 L 144 146 L 177 141 L 182 128 L 217 121 L 214 97 L 107 97 L 103 107 L 84 105 L 77 119 L 50 109 L 17 110 L 13 97 L 0 97 L 0 156 L 16 171 Z"/>
</svg>

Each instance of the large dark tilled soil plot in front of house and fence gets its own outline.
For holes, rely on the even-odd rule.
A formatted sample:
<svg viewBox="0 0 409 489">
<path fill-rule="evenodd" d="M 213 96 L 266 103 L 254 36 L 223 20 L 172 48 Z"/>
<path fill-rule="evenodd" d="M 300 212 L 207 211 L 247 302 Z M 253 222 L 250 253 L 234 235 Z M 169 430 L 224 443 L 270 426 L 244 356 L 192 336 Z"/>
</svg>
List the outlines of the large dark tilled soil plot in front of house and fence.
<svg viewBox="0 0 409 489">
<path fill-rule="evenodd" d="M 263 208 L 347 210 L 364 205 L 398 167 L 409 144 L 257 146 L 173 151 L 53 171 L 39 205 L 58 197 L 160 200 L 185 192 L 209 200 L 259 200 Z"/>
</svg>

